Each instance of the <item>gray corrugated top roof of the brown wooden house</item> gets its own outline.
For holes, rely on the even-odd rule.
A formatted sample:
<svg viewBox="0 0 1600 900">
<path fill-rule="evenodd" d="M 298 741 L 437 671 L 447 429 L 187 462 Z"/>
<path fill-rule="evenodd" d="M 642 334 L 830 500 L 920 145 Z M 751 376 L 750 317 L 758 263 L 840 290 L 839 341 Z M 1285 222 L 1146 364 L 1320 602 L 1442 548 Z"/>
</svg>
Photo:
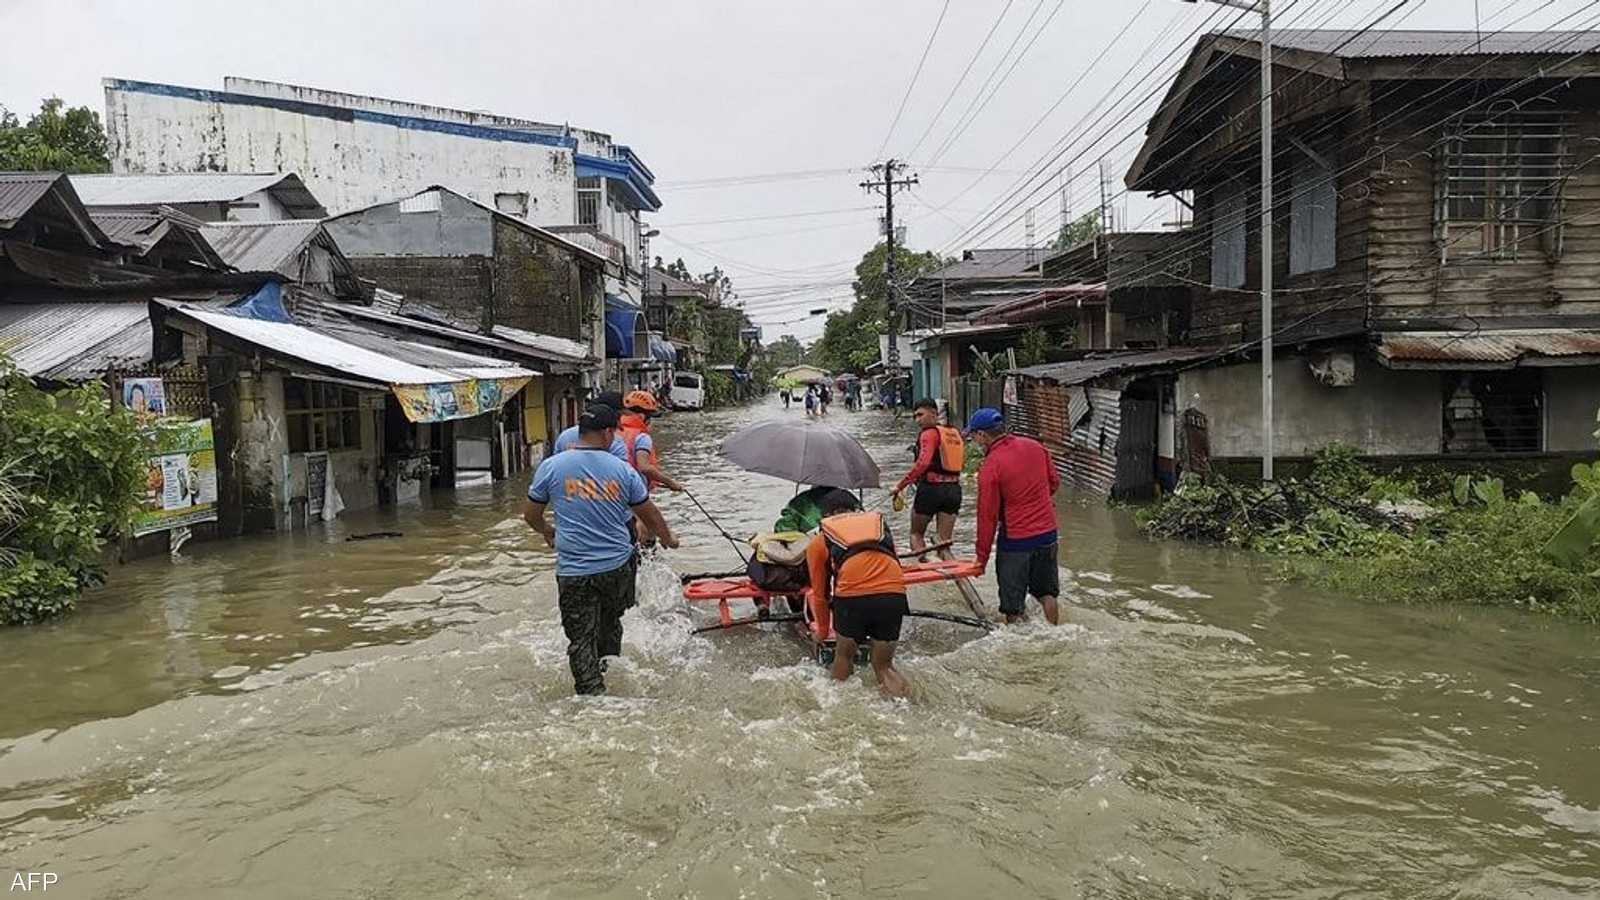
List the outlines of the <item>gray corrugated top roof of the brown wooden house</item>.
<svg viewBox="0 0 1600 900">
<path fill-rule="evenodd" d="M 1256 40 L 1256 32 L 1227 32 Z M 1395 56 L 1533 56 L 1600 51 L 1600 30 L 1586 32 L 1477 32 L 1453 30 L 1346 30 L 1285 29 L 1272 32 L 1278 48 L 1328 53 L 1344 59 Z"/>
</svg>

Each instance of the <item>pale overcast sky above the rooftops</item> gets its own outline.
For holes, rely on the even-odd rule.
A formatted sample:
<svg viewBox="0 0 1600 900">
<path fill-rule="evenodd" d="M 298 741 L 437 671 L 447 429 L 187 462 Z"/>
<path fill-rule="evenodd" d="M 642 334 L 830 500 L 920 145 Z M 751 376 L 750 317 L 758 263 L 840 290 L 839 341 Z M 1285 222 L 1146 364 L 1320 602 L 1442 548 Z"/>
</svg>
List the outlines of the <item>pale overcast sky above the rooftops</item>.
<svg viewBox="0 0 1600 900">
<path fill-rule="evenodd" d="M 1397 2 L 1280 0 L 1280 26 L 1360 27 Z M 1498 30 L 1541 3 L 1477 5 Z M 1592 5 L 1555 0 L 1515 27 Z M 1387 24 L 1472 29 L 1474 8 L 1411 0 Z M 0 0 L 0 104 L 26 117 L 58 94 L 104 114 L 102 77 L 221 88 L 246 75 L 605 131 L 656 173 L 651 253 L 696 272 L 720 264 L 768 338 L 810 340 L 821 319 L 806 311 L 848 306 L 850 272 L 877 240 L 880 199 L 858 183 L 882 155 L 920 176 L 898 195 L 915 250 L 1021 247 L 1027 207 L 1035 240 L 1051 240 L 1061 168 L 1078 171 L 1080 215 L 1098 203 L 1101 155 L 1126 207 L 1118 224 L 1171 219 L 1171 202 L 1125 199 L 1122 173 L 1195 29 L 1237 14 L 1181 0 Z M 1122 106 L 1098 120 L 1109 99 Z M 1006 202 L 1018 186 L 1026 202 Z M 995 205 L 1006 215 L 986 215 Z"/>
</svg>

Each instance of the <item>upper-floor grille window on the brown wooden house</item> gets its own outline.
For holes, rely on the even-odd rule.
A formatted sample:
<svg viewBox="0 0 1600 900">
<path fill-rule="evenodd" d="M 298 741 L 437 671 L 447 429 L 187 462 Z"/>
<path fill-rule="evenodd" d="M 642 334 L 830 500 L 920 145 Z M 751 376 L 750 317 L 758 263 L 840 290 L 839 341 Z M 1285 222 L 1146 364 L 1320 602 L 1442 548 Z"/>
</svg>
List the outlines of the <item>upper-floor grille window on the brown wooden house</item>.
<svg viewBox="0 0 1600 900">
<path fill-rule="evenodd" d="M 1443 263 L 1560 256 L 1566 117 L 1494 112 L 1458 119 L 1438 152 L 1435 239 Z"/>
</svg>

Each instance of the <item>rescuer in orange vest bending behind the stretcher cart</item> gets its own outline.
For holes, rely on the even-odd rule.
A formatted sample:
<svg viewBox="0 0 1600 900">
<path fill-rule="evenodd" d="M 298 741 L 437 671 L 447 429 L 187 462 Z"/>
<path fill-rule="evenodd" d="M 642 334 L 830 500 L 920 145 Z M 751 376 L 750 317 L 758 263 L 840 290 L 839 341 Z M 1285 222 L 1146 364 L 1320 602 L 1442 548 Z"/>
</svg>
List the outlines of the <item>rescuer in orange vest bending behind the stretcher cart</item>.
<svg viewBox="0 0 1600 900">
<path fill-rule="evenodd" d="M 806 546 L 806 569 L 813 618 L 830 620 L 837 637 L 834 679 L 850 677 L 856 649 L 870 639 L 878 692 L 906 697 L 910 685 L 894 668 L 894 642 L 910 605 L 888 522 L 880 512 L 862 512 L 845 490 L 824 496 L 821 506 L 821 533 Z"/>
</svg>

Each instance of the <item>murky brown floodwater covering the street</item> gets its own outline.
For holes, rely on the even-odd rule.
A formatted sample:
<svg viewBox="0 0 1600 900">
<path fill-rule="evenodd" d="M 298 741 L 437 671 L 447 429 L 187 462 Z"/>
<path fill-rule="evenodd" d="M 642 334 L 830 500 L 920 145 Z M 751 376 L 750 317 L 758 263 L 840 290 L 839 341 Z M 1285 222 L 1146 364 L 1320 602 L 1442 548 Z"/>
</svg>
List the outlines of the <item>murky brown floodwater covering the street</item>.
<svg viewBox="0 0 1600 900">
<path fill-rule="evenodd" d="M 717 456 L 770 415 L 802 413 L 658 426 L 734 533 L 792 492 Z M 886 482 L 909 464 L 909 420 L 829 421 Z M 712 617 L 674 570 L 733 551 L 667 495 L 685 549 L 646 562 L 611 695 L 579 700 L 523 487 L 190 546 L 0 631 L 0 874 L 152 898 L 1600 895 L 1587 626 L 1320 596 L 1064 498 L 1070 625 L 910 620 L 891 703 L 778 628 L 691 637 Z M 963 548 L 971 511 L 968 484 Z"/>
</svg>

